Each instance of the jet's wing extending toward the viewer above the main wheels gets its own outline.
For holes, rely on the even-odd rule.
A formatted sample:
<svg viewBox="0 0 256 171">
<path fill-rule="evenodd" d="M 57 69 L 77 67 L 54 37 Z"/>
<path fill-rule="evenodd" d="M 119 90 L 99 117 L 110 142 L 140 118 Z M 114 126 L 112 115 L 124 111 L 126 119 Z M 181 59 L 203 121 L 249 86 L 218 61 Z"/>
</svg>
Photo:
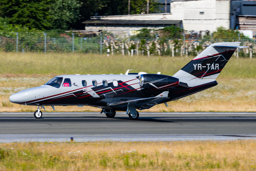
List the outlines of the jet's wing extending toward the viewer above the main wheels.
<svg viewBox="0 0 256 171">
<path fill-rule="evenodd" d="M 149 109 L 153 107 L 156 104 L 161 103 L 162 101 L 168 99 L 168 91 L 165 91 L 157 96 L 154 97 L 148 97 L 148 98 L 142 98 L 142 99 L 135 99 L 135 100 L 127 100 L 127 101 L 121 101 L 121 102 L 114 102 L 114 103 L 109 103 L 109 107 L 113 106 L 126 106 L 128 103 L 131 105 L 134 105 L 136 108 L 141 108 L 141 109 Z"/>
</svg>

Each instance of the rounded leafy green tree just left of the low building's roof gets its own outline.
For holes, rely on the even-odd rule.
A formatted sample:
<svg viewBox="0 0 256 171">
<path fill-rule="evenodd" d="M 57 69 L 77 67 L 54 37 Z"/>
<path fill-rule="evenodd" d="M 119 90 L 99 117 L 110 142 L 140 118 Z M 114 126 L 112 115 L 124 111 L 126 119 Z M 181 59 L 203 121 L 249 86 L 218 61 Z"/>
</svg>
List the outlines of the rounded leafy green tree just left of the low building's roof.
<svg viewBox="0 0 256 171">
<path fill-rule="evenodd" d="M 51 17 L 51 26 L 53 29 L 67 30 L 73 25 L 81 15 L 79 8 L 82 3 L 77 0 L 57 0 L 51 5 L 49 11 Z"/>
</svg>

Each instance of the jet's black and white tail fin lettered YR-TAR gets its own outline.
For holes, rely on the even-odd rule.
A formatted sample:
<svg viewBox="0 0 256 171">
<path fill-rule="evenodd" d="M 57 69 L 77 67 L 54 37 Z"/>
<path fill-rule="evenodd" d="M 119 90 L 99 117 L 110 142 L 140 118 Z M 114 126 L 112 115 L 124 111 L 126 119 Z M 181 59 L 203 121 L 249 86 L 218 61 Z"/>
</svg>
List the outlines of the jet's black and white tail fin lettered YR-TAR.
<svg viewBox="0 0 256 171">
<path fill-rule="evenodd" d="M 221 70 L 225 67 L 240 42 L 214 43 L 191 60 L 173 77 L 189 87 L 214 82 Z"/>
</svg>

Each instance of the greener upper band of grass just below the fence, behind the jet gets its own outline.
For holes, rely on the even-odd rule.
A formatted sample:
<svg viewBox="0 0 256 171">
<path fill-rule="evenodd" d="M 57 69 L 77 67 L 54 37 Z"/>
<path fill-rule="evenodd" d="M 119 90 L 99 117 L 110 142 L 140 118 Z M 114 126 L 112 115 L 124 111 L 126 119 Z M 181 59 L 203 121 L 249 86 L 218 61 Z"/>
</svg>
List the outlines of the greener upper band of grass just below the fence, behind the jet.
<svg viewBox="0 0 256 171">
<path fill-rule="evenodd" d="M 132 72 L 173 75 L 193 56 L 123 56 L 81 53 L 0 53 L 0 74 L 60 75 L 60 74 L 121 74 Z M 256 59 L 231 58 L 222 77 L 256 77 Z"/>
</svg>

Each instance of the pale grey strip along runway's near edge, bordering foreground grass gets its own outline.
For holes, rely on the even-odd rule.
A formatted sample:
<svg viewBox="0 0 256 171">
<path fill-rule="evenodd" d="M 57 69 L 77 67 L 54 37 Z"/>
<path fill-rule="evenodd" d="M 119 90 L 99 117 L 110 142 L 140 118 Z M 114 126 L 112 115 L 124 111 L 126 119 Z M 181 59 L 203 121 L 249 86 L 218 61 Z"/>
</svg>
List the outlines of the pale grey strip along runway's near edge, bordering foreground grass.
<svg viewBox="0 0 256 171">
<path fill-rule="evenodd" d="M 75 142 L 90 141 L 227 141 L 227 140 L 256 140 L 256 134 L 242 135 L 175 135 L 175 134 L 0 134 L 0 143 L 12 142 Z"/>
</svg>

